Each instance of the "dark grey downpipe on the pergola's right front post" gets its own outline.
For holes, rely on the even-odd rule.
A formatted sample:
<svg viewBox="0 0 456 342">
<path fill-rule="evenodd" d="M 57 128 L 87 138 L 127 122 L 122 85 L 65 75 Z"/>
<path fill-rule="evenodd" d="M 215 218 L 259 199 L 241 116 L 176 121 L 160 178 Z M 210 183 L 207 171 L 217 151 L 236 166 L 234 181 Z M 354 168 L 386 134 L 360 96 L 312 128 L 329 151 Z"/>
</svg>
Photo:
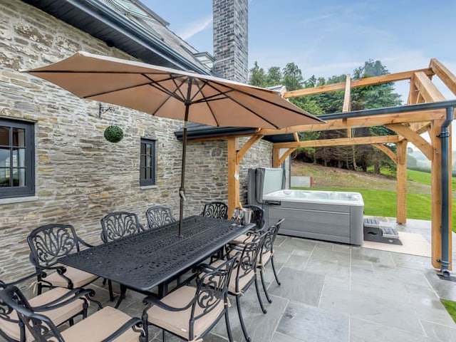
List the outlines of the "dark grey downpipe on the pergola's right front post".
<svg viewBox="0 0 456 342">
<path fill-rule="evenodd" d="M 450 167 L 448 163 L 448 155 L 450 152 L 450 130 L 448 127 L 454 119 L 454 107 L 450 106 L 446 108 L 447 118 L 442 123 L 440 134 L 437 135 L 441 139 L 442 146 L 442 259 L 440 259 L 440 272 L 444 279 L 450 279 L 450 247 L 448 235 L 450 233 L 450 219 L 449 219 L 449 202 L 450 202 L 450 191 L 448 190 L 448 182 L 450 175 Z"/>
</svg>

